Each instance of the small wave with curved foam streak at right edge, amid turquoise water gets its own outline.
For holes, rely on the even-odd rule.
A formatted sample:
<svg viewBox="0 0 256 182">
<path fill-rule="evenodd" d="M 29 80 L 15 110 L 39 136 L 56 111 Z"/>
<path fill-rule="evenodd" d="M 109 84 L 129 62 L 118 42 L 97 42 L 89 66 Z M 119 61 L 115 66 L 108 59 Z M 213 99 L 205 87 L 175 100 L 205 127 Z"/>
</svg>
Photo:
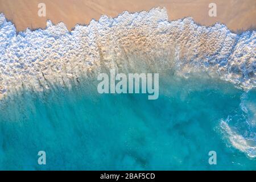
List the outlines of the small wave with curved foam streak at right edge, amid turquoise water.
<svg viewBox="0 0 256 182">
<path fill-rule="evenodd" d="M 224 137 L 233 147 L 244 152 L 250 158 L 256 158 L 256 94 L 244 92 L 240 108 L 221 119 L 220 127 Z"/>
</svg>

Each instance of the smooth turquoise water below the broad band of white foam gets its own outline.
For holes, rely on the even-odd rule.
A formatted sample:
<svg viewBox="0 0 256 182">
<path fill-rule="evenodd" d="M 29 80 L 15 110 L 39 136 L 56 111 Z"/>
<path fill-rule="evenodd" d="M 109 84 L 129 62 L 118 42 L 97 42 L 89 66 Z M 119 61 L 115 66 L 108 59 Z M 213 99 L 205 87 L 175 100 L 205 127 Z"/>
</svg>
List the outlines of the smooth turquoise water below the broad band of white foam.
<svg viewBox="0 0 256 182">
<path fill-rule="evenodd" d="M 159 77 L 158 100 L 98 94 L 95 81 L 82 81 L 2 101 L 0 169 L 256 169 L 255 158 L 234 147 L 221 127 L 229 121 L 236 133 L 255 139 L 255 89 L 245 93 L 213 78 Z M 217 165 L 209 165 L 209 151 L 217 152 Z"/>
</svg>

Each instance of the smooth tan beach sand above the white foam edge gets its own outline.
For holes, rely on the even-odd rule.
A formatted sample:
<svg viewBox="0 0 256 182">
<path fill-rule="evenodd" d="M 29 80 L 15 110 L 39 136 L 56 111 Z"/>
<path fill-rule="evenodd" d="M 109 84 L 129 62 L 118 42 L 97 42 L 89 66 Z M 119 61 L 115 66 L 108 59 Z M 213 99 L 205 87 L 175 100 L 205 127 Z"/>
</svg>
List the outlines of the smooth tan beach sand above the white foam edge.
<svg viewBox="0 0 256 182">
<path fill-rule="evenodd" d="M 38 16 L 38 3 L 46 3 L 47 16 Z M 209 3 L 217 4 L 217 17 L 208 15 Z M 71 30 L 77 23 L 88 24 L 101 15 L 115 17 L 123 11 L 150 10 L 166 7 L 170 20 L 187 16 L 200 24 L 225 23 L 230 30 L 256 27 L 256 0 L 0 0 L 0 13 L 15 23 L 16 28 L 44 28 L 46 20 L 64 22 Z"/>
</svg>

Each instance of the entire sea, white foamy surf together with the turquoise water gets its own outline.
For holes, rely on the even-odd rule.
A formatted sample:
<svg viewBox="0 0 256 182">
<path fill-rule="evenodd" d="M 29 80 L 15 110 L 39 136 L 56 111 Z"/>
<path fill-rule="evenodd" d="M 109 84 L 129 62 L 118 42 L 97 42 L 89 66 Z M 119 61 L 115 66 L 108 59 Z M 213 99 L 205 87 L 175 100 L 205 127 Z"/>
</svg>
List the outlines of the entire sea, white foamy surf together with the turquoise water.
<svg viewBox="0 0 256 182">
<path fill-rule="evenodd" d="M 42 145 L 57 164 L 43 169 L 255 169 L 255 48 L 255 31 L 169 21 L 160 8 L 70 32 L 50 20 L 17 32 L 0 14 L 0 168 L 42 169 L 31 157 Z M 110 69 L 159 73 L 159 100 L 98 94 Z M 224 160 L 211 168 L 214 148 Z"/>
</svg>

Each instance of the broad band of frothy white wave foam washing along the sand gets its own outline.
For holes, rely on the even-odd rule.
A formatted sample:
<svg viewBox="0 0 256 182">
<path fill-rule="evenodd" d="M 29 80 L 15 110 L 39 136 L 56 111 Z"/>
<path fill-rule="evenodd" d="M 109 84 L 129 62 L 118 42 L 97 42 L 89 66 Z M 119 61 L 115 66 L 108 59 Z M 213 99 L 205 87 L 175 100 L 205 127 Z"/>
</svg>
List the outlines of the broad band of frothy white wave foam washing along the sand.
<svg viewBox="0 0 256 182">
<path fill-rule="evenodd" d="M 200 26 L 192 18 L 168 21 L 166 9 L 116 18 L 101 16 L 71 32 L 50 20 L 42 30 L 16 32 L 0 14 L 0 93 L 71 86 L 103 68 L 173 69 L 181 76 L 207 72 L 243 89 L 255 88 L 255 31 L 234 34 L 224 24 Z"/>
</svg>

